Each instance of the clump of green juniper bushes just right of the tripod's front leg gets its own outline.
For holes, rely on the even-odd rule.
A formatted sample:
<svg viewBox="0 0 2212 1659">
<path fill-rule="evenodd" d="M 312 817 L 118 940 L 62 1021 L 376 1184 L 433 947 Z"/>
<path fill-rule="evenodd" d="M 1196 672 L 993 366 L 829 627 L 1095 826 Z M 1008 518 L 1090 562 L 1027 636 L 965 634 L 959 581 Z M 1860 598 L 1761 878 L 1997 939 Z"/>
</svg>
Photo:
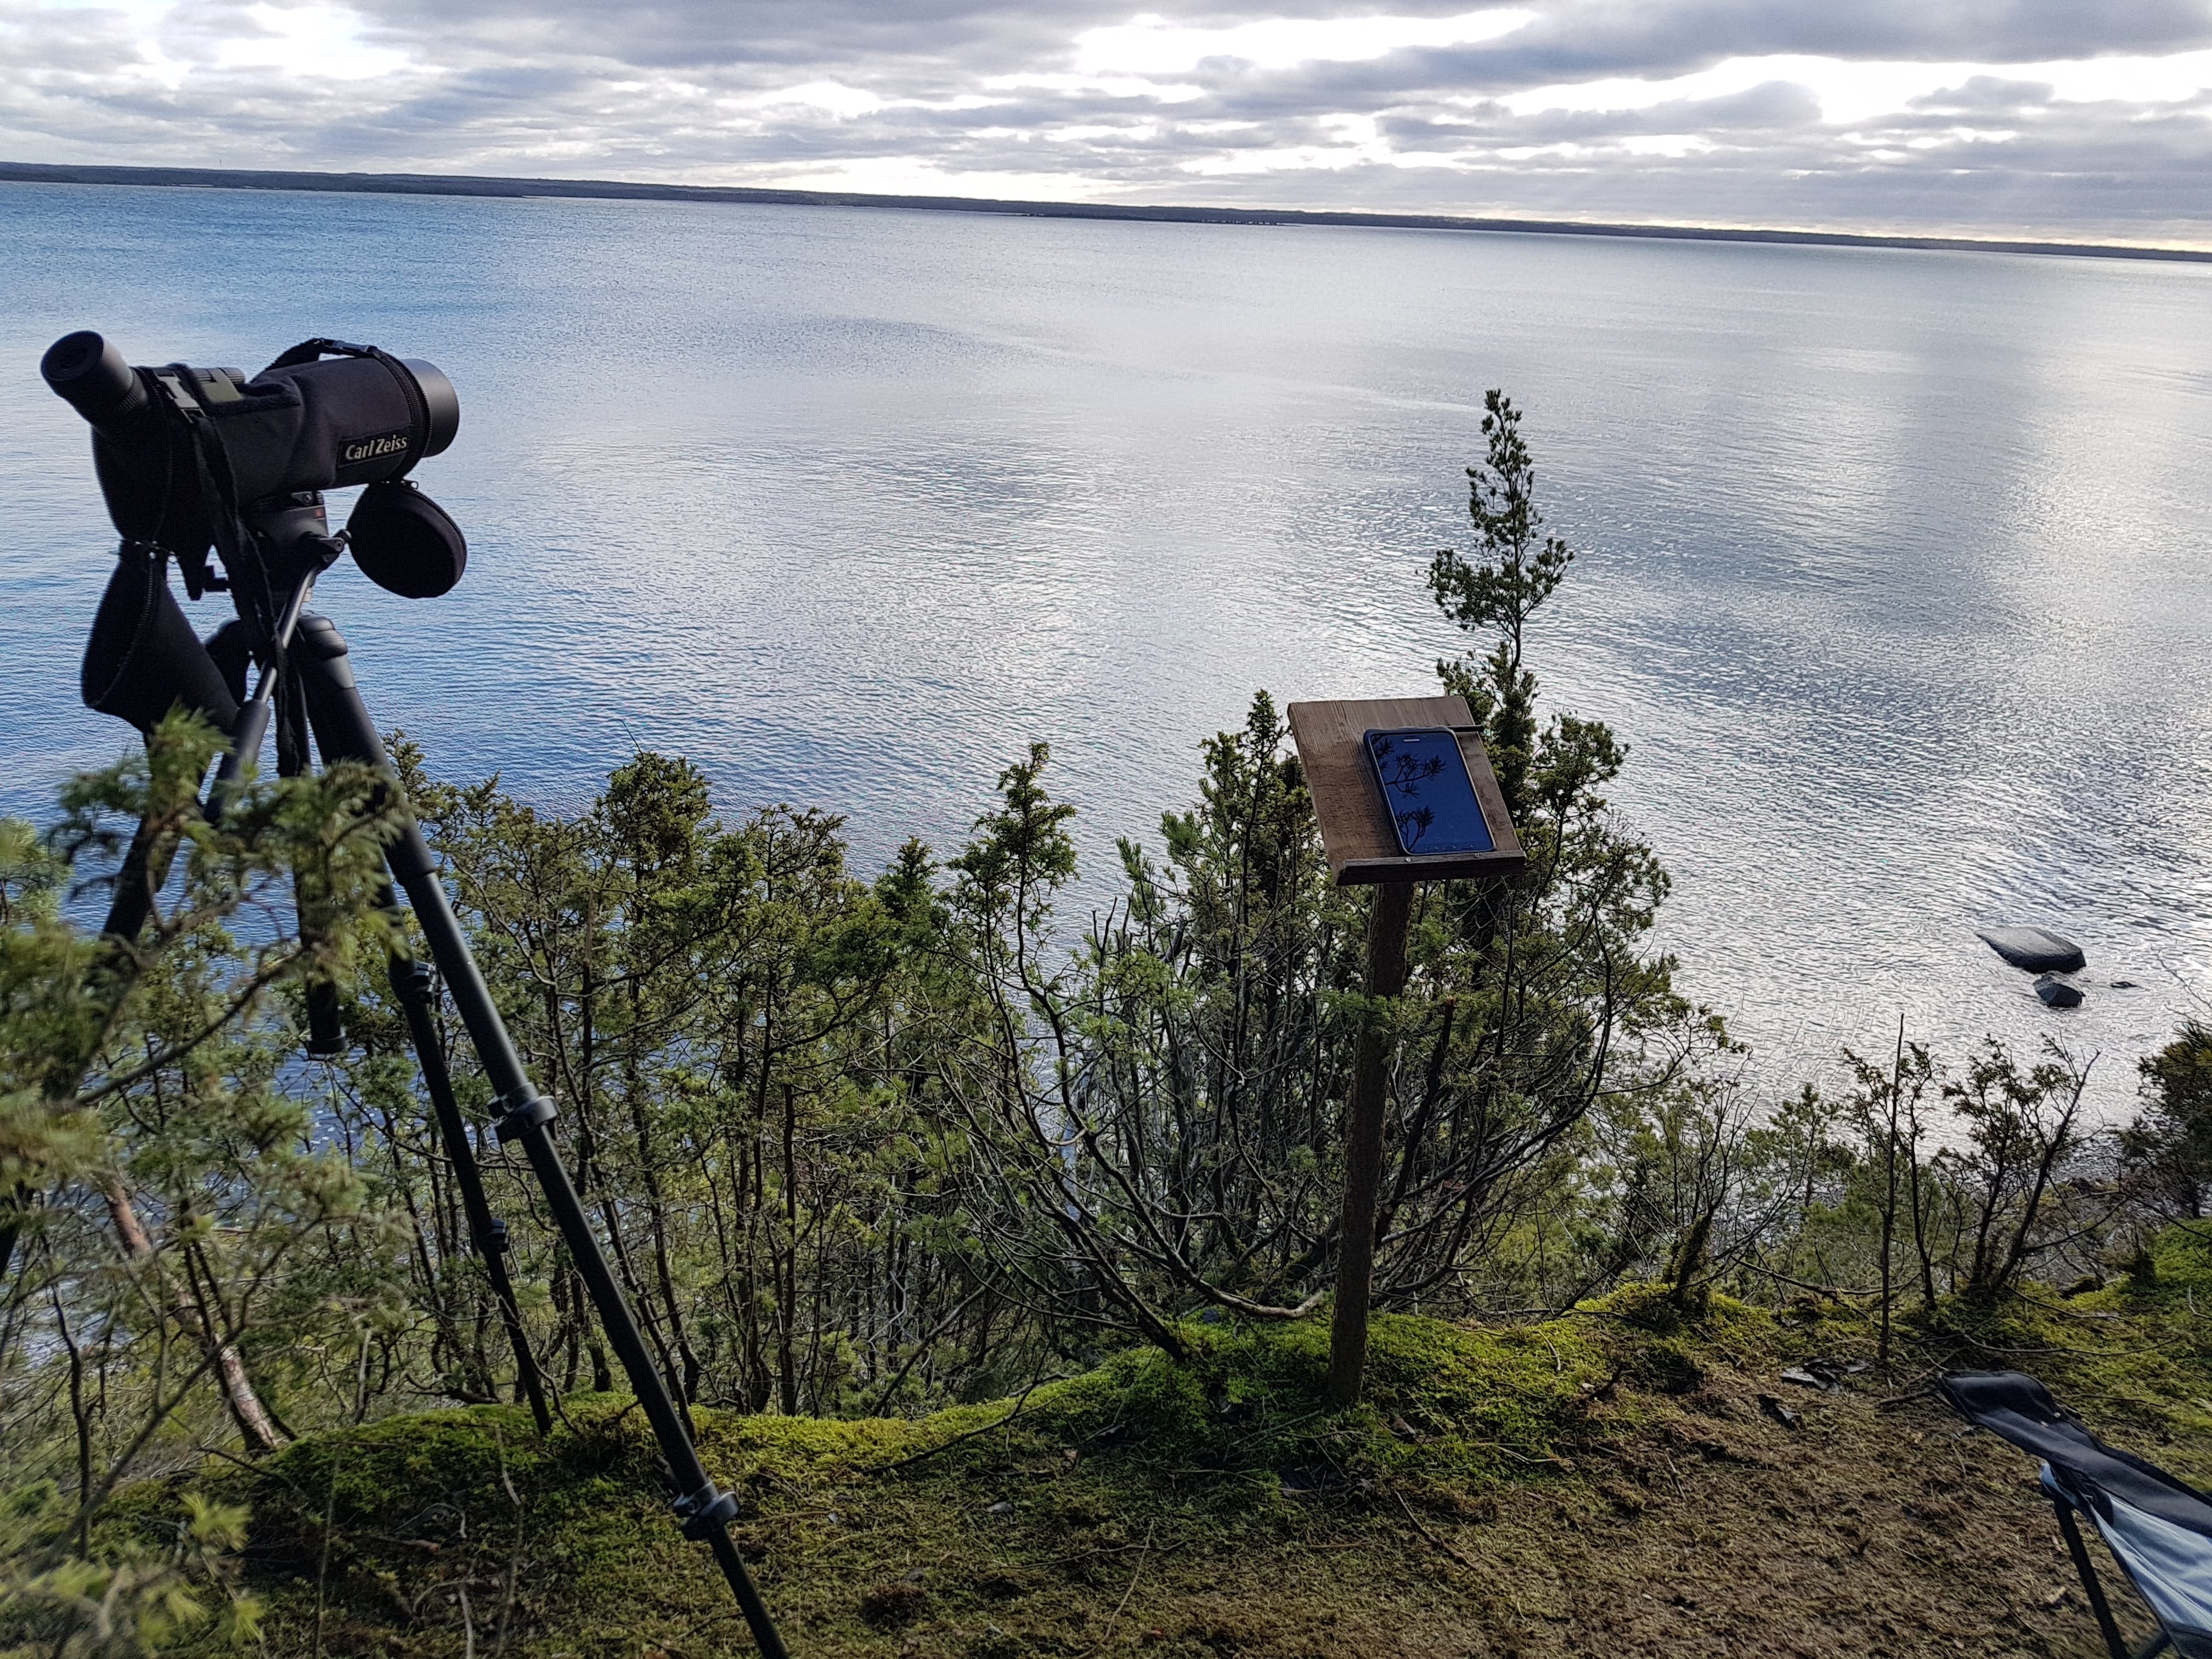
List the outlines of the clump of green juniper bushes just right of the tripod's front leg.
<svg viewBox="0 0 2212 1659">
<path fill-rule="evenodd" d="M 975 1292 L 914 1121 L 931 1082 L 918 1048 L 945 991 L 929 849 L 911 843 L 869 887 L 845 869 L 838 818 L 774 807 L 723 823 L 679 759 L 639 754 L 591 812 L 553 818 L 495 781 L 431 785 L 403 741 L 396 754 L 509 1031 L 557 1091 L 577 1190 L 617 1241 L 672 1391 L 785 1413 L 880 1405 L 887 1389 L 927 1398 L 940 1356 L 902 1360 Z M 995 872 L 969 883 L 975 902 L 1000 902 Z M 405 1033 L 378 1024 L 374 989 L 356 995 L 372 1015 L 356 1029 L 389 1044 L 365 1060 L 398 1060 Z M 469 1073 L 465 1051 L 453 1068 Z M 365 1133 L 420 1115 L 369 1064 L 349 1064 L 343 1086 Z M 467 1104 L 484 1110 L 482 1095 Z M 416 1250 L 438 1367 L 462 1398 L 491 1398 L 484 1285 L 436 1161 L 409 1159 L 407 1181 L 411 1208 L 440 1219 Z M 513 1237 L 518 1276 L 551 1292 L 531 1325 L 555 1383 L 608 1387 L 557 1239 L 520 1223 Z"/>
</svg>

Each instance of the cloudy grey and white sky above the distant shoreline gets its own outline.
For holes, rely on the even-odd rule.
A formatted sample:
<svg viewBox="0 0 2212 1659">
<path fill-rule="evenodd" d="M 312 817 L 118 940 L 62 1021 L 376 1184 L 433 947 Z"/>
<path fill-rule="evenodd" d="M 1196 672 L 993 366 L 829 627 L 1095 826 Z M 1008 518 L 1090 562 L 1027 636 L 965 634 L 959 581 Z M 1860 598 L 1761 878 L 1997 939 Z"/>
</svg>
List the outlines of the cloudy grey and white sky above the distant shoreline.
<svg viewBox="0 0 2212 1659">
<path fill-rule="evenodd" d="M 2212 246 L 2212 0 L 0 0 L 0 159 Z"/>
</svg>

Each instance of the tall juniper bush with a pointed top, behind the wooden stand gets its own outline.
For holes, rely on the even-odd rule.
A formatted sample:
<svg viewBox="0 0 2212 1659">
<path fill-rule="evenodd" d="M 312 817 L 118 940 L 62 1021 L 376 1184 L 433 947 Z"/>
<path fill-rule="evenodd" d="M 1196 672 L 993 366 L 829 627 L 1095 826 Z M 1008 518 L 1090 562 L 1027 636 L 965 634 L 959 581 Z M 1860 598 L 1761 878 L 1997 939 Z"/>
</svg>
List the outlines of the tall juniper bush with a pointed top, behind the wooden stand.
<svg viewBox="0 0 2212 1659">
<path fill-rule="evenodd" d="M 1666 874 L 1610 814 L 1624 748 L 1571 714 L 1537 730 L 1522 650 L 1571 555 L 1537 535 L 1520 414 L 1502 394 L 1489 407 L 1489 460 L 1469 471 L 1482 551 L 1438 555 L 1431 586 L 1447 615 L 1498 635 L 1444 679 L 1482 714 L 1528 869 L 1422 894 L 1402 998 L 1371 1009 L 1360 995 L 1367 896 L 1329 880 L 1265 695 L 1243 730 L 1206 743 L 1199 805 L 1161 823 L 1166 858 L 1121 843 L 1124 896 L 1073 964 L 1048 964 L 1040 933 L 1073 869 L 1042 752 L 978 825 L 975 869 L 1018 874 L 956 894 L 975 918 L 982 1031 L 998 1042 L 969 1071 L 989 1086 L 947 1093 L 969 1190 L 1004 1194 L 984 1248 L 1053 1321 L 1121 1325 L 1172 1352 L 1177 1321 L 1203 1307 L 1314 1312 L 1336 1272 L 1347 1068 L 1371 1018 L 1394 1037 L 1385 1307 L 1475 1305 L 1478 1263 L 1551 1208 L 1557 1159 L 1599 1102 L 1630 1113 L 1728 1048 L 1646 945 Z M 1000 889 L 1029 894 L 1037 918 L 993 900 Z"/>
</svg>

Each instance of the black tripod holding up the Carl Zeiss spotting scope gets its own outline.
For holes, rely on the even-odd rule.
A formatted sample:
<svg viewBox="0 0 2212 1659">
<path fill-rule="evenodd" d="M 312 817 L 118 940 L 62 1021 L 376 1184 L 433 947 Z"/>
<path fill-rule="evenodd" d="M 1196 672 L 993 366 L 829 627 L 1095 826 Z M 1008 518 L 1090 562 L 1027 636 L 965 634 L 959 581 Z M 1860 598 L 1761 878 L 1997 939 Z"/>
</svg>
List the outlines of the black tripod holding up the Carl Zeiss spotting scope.
<svg viewBox="0 0 2212 1659">
<path fill-rule="evenodd" d="M 292 522 L 285 522 L 288 518 Z M 358 761 L 383 772 L 394 781 L 394 790 L 398 787 L 392 761 L 376 734 L 376 721 L 369 717 L 369 708 L 361 699 L 361 688 L 354 684 L 345 639 L 327 617 L 305 613 L 307 591 L 314 586 L 314 577 L 330 564 L 330 557 L 336 557 L 338 546 L 332 538 L 316 535 L 321 529 L 321 502 L 314 504 L 312 520 L 312 524 L 303 522 L 301 507 L 250 518 L 254 538 L 263 546 L 281 551 L 285 555 L 283 564 L 299 571 L 299 575 L 283 606 L 276 639 L 268 650 L 261 684 L 232 726 L 234 741 L 230 754 L 226 754 L 210 790 L 210 816 L 221 814 L 239 774 L 257 757 L 261 737 L 268 730 L 272 695 L 281 679 L 290 679 L 305 703 L 307 726 L 314 732 L 314 745 L 321 750 L 325 765 L 332 761 Z M 299 560 L 303 555 L 305 566 L 301 568 Z M 142 843 L 133 843 L 133 856 L 139 854 Z M 787 1648 L 776 1632 L 768 1604 L 761 1601 L 761 1593 L 745 1571 L 737 1542 L 730 1537 L 730 1522 L 737 1517 L 737 1498 L 721 1491 L 708 1478 L 706 1464 L 699 1462 L 690 1422 L 677 1409 L 666 1378 L 653 1363 L 653 1354 L 646 1349 L 644 1334 L 637 1327 L 637 1316 L 622 1294 L 622 1285 L 613 1267 L 608 1267 L 606 1252 L 599 1248 L 599 1237 L 591 1230 L 568 1170 L 562 1166 L 560 1148 L 553 1141 L 553 1102 L 531 1086 L 522 1057 L 515 1053 L 513 1040 L 507 1035 L 507 1024 L 500 1020 L 500 1011 L 484 984 L 484 975 L 469 953 L 469 940 L 460 929 L 460 920 L 453 916 L 445 887 L 438 883 L 436 860 L 411 812 L 403 814 L 400 832 L 385 847 L 385 863 L 407 894 L 416 925 L 429 945 L 431 960 L 438 964 L 438 973 L 445 975 L 453 1006 L 460 1011 L 469 1042 L 484 1066 L 484 1077 L 491 1082 L 500 1108 L 493 1130 L 502 1146 L 520 1141 L 522 1155 L 529 1159 L 531 1172 L 544 1190 L 546 1208 L 553 1212 L 562 1243 L 599 1314 L 599 1325 L 615 1356 L 622 1360 L 624 1374 L 630 1378 L 630 1389 L 644 1407 L 646 1420 L 653 1425 L 653 1436 L 659 1442 L 677 1491 L 675 1511 L 684 1535 L 706 1542 L 714 1553 L 714 1562 L 730 1582 L 730 1590 L 745 1615 L 745 1626 L 752 1630 L 752 1639 L 765 1659 L 787 1659 Z M 117 887 L 115 909 L 108 916 L 111 933 L 122 940 L 137 936 L 153 907 L 153 891 L 159 887 L 161 874 L 159 869 L 150 869 L 146 860 L 139 860 L 133 876 L 126 860 L 126 880 Z M 389 898 L 389 889 L 385 894 Z M 389 978 L 392 991 L 407 1015 L 409 1037 L 422 1064 L 422 1082 L 438 1115 L 440 1137 L 460 1179 L 469 1232 L 500 1298 L 500 1316 L 515 1349 L 520 1387 L 531 1400 L 540 1431 L 546 1431 L 551 1420 L 546 1416 L 544 1385 L 522 1329 L 513 1283 L 507 1274 L 507 1230 L 491 1217 L 482 1175 L 476 1168 L 460 1106 L 453 1099 L 445 1051 L 431 1024 L 431 973 L 425 964 L 396 953 L 389 962 Z M 323 989 L 321 993 L 310 991 L 307 1002 L 310 1053 L 334 1055 L 341 1046 L 334 1000 Z"/>
</svg>

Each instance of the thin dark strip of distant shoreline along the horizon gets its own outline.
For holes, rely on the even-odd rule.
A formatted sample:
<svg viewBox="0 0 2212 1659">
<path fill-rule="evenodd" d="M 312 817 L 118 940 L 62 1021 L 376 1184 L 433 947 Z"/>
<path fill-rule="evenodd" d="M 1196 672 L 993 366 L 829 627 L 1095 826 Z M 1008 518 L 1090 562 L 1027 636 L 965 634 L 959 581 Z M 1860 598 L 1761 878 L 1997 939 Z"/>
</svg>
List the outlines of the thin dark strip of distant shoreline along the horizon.
<svg viewBox="0 0 2212 1659">
<path fill-rule="evenodd" d="M 1849 230 L 1736 230 L 1637 226 L 1584 219 L 1473 219 L 1442 212 L 1332 212 L 1296 208 L 1148 208 L 1110 201 L 995 201 L 987 197 L 894 197 L 858 190 L 761 190 L 714 184 L 622 179 L 498 179 L 445 173 L 272 173 L 246 168 L 119 168 L 0 161 L 0 184 L 133 184 L 199 190 L 334 190 L 400 197 L 566 197 L 586 201 L 730 201 L 790 208 L 911 208 L 1000 212 L 1024 219 L 1139 219 L 1199 226 L 1360 226 L 1374 230 L 1489 230 L 1540 237 L 1641 237 L 1648 241 L 1759 241 L 1812 248 L 1916 248 L 1978 254 L 2073 254 L 2212 263 L 2212 250 L 2086 241 L 1997 241 L 1982 237 L 1874 237 Z"/>
</svg>

